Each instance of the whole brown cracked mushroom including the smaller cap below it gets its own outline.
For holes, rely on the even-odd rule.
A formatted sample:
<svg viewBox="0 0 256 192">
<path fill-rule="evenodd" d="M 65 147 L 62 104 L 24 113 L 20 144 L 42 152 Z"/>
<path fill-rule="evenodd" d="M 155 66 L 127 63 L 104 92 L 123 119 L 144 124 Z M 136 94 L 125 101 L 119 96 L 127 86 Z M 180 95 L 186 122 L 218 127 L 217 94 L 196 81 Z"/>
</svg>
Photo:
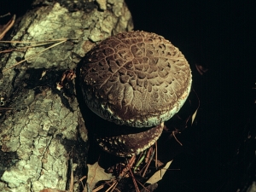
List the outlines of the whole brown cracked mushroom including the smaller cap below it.
<svg viewBox="0 0 256 192">
<path fill-rule="evenodd" d="M 131 156 L 160 137 L 189 96 L 192 76 L 184 55 L 152 32 L 121 32 L 103 40 L 81 61 L 84 102 L 102 119 L 139 131 L 97 137 L 103 150 Z M 112 127 L 106 127 L 112 132 Z M 146 130 L 145 130 L 146 129 Z M 142 130 L 142 131 L 140 131 Z"/>
</svg>

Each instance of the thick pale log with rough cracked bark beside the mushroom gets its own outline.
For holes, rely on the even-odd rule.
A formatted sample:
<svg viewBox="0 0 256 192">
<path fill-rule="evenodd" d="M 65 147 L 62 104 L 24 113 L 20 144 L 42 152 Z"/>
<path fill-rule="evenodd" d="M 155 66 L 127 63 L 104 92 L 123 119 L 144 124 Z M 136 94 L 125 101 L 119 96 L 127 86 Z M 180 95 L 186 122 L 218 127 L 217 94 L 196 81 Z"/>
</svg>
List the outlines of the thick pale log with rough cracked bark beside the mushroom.
<svg viewBox="0 0 256 192">
<path fill-rule="evenodd" d="M 96 42 L 131 30 L 131 14 L 123 0 L 75 6 L 38 0 L 32 7 L 16 21 L 9 40 L 71 40 L 9 70 L 45 47 L 0 55 L 0 191 L 69 189 L 71 170 L 74 191 L 81 191 L 77 181 L 86 175 L 87 131 L 74 79 L 61 90 L 56 84 Z"/>
</svg>

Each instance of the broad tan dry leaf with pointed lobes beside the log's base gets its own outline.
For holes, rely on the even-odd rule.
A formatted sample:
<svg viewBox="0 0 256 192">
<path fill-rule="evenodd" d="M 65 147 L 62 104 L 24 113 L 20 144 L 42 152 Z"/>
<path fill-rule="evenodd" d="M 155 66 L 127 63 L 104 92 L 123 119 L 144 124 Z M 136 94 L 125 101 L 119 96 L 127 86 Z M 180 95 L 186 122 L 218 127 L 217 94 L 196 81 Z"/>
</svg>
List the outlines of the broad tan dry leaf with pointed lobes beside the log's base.
<svg viewBox="0 0 256 192">
<path fill-rule="evenodd" d="M 89 189 L 94 189 L 96 183 L 102 180 L 110 180 L 113 178 L 111 173 L 104 172 L 104 169 L 99 166 L 98 162 L 93 165 L 88 164 L 88 179 L 87 183 L 89 185 Z"/>
</svg>

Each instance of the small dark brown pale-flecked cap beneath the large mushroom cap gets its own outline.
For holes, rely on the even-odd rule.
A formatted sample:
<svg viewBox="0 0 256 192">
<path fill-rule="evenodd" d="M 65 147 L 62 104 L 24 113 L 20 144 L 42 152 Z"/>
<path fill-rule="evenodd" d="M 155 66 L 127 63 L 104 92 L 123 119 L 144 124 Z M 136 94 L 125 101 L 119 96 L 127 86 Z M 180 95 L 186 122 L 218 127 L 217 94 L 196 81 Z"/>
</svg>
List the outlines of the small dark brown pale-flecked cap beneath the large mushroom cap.
<svg viewBox="0 0 256 192">
<path fill-rule="evenodd" d="M 96 141 L 100 148 L 110 154 L 119 157 L 133 156 L 152 146 L 159 139 L 163 128 L 162 122 L 147 131 L 113 137 L 97 137 Z"/>
</svg>

